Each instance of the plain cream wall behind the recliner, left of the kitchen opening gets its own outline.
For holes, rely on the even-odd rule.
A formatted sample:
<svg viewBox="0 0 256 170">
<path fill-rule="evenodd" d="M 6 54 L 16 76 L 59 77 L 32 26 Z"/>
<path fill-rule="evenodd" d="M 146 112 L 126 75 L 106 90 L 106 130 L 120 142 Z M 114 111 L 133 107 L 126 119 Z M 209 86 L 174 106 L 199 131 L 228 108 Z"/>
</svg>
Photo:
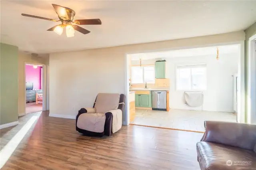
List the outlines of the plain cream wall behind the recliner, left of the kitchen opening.
<svg viewBox="0 0 256 170">
<path fill-rule="evenodd" d="M 50 114 L 76 116 L 98 93 L 125 93 L 124 58 L 77 51 L 50 55 Z"/>
</svg>

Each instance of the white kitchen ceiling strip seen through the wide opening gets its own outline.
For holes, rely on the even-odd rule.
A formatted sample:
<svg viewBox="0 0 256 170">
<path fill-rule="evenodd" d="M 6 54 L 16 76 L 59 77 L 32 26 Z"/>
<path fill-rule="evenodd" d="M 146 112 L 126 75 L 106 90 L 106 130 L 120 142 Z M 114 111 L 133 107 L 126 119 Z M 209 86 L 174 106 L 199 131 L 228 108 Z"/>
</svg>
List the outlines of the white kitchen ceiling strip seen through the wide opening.
<svg viewBox="0 0 256 170">
<path fill-rule="evenodd" d="M 222 45 L 218 46 L 219 55 L 226 53 L 238 53 L 239 45 Z M 199 55 L 216 55 L 217 47 L 202 47 L 192 49 L 179 49 L 172 51 L 152 52 L 152 53 L 138 53 L 130 54 L 132 60 L 148 60 L 148 59 L 162 59 L 172 57 L 194 57 Z"/>
</svg>

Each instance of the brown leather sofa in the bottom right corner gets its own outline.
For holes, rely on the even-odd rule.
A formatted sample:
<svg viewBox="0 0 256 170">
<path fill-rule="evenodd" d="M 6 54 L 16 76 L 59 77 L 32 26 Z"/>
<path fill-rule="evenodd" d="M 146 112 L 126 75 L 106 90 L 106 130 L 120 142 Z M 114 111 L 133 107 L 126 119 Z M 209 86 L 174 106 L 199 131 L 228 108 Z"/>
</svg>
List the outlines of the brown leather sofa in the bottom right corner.
<svg viewBox="0 0 256 170">
<path fill-rule="evenodd" d="M 204 121 L 196 144 L 201 170 L 256 170 L 256 125 Z"/>
</svg>

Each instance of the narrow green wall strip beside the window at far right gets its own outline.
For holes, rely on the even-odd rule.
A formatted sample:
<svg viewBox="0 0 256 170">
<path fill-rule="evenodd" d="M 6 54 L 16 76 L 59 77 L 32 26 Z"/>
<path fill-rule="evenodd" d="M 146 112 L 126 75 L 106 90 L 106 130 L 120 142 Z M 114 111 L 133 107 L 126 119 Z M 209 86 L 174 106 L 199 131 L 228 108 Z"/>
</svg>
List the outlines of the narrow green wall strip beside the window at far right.
<svg viewBox="0 0 256 170">
<path fill-rule="evenodd" d="M 248 95 L 248 89 L 247 89 L 247 77 L 248 77 L 248 69 L 247 69 L 247 62 L 248 62 L 248 40 L 251 36 L 256 34 L 256 22 L 252 24 L 249 28 L 247 28 L 245 31 L 245 42 L 244 42 L 244 57 L 245 57 L 245 87 L 246 87 L 246 100 Z M 247 101 L 246 101 L 247 103 Z M 246 104 L 247 106 L 247 104 Z M 246 117 L 247 117 L 247 107 L 246 107 Z M 245 119 L 247 121 L 247 119 Z"/>
</svg>

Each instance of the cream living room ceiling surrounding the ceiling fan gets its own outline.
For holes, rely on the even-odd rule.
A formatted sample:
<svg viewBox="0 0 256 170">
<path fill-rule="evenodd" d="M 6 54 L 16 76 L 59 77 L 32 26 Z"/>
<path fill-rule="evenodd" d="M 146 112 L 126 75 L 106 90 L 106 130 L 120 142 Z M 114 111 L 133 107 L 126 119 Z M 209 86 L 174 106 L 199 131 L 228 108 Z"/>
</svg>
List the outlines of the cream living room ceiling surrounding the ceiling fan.
<svg viewBox="0 0 256 170">
<path fill-rule="evenodd" d="M 100 18 L 73 38 L 48 32 L 58 19 L 52 3 L 72 8 L 75 19 Z M 256 1 L 1 1 L 1 42 L 22 51 L 50 53 L 189 38 L 244 30 L 256 21 Z M 58 23 L 59 24 L 59 23 Z"/>
</svg>

